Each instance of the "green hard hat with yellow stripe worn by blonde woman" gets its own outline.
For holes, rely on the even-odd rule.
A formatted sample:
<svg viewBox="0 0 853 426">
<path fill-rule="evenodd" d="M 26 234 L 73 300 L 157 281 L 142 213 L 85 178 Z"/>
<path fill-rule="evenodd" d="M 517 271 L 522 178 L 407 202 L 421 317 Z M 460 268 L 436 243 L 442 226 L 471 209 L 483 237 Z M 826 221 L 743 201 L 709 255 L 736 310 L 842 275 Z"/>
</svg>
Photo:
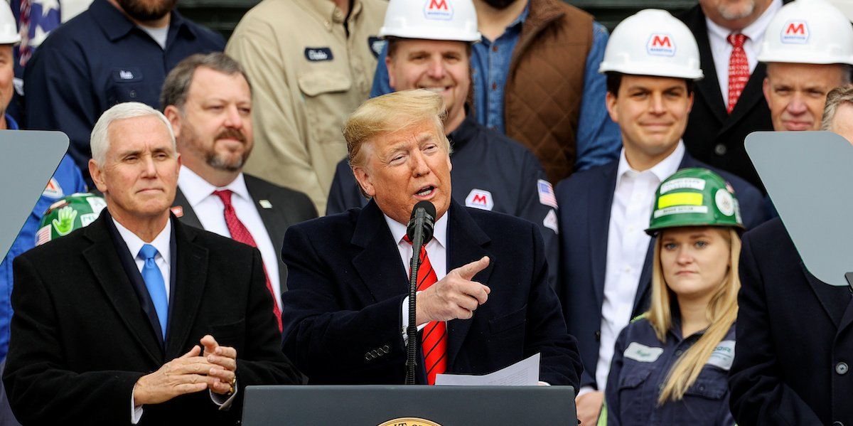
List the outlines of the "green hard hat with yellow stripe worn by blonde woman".
<svg viewBox="0 0 853 426">
<path fill-rule="evenodd" d="M 734 226 L 743 229 L 740 204 L 731 185 L 715 172 L 682 169 L 661 182 L 654 193 L 646 233 L 654 236 L 677 226 Z"/>
</svg>

